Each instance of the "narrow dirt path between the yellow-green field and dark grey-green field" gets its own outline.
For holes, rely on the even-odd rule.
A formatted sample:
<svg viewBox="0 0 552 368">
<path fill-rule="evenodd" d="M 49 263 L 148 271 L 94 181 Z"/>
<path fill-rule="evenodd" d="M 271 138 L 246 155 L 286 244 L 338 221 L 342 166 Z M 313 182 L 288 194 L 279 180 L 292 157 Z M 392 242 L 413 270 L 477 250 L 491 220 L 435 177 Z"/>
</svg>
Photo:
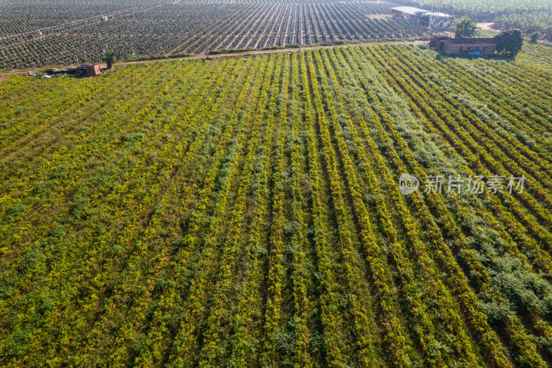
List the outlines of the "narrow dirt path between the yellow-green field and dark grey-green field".
<svg viewBox="0 0 552 368">
<path fill-rule="evenodd" d="M 400 45 L 400 44 L 406 44 L 406 45 L 413 45 L 418 43 L 427 43 L 428 41 L 388 41 L 388 42 L 368 42 L 368 43 L 351 43 L 348 45 L 331 45 L 331 46 L 307 46 L 301 48 L 301 50 L 318 50 L 321 48 L 346 48 L 348 46 L 354 47 L 354 46 L 377 46 L 377 45 Z M 270 54 L 285 54 L 286 52 L 299 52 L 299 48 L 278 48 L 276 50 L 255 50 L 255 51 L 247 51 L 247 52 L 228 52 L 226 54 L 217 54 L 217 55 L 209 55 L 209 60 L 219 60 L 219 59 L 230 59 L 230 58 L 239 58 L 239 57 L 253 57 L 253 56 L 262 56 L 262 55 L 270 55 Z M 125 66 L 130 64 L 149 64 L 149 63 L 162 63 L 164 61 L 184 61 L 184 60 L 199 60 L 199 59 L 206 59 L 205 55 L 194 55 L 194 56 L 188 56 L 188 57 L 166 57 L 163 59 L 153 59 L 153 60 L 140 60 L 140 61 L 124 61 L 121 63 L 115 64 L 115 68 L 117 66 Z M 105 66 L 106 64 L 98 64 L 99 66 Z M 58 68 L 63 68 L 63 66 L 58 66 Z M 50 69 L 50 67 L 46 68 L 38 68 L 35 70 L 32 70 L 33 72 L 41 72 L 46 69 Z M 4 79 L 9 75 L 24 75 L 30 70 L 29 68 L 26 69 L 20 69 L 20 70 L 11 70 L 9 72 L 0 72 L 0 79 L 4 77 Z"/>
</svg>

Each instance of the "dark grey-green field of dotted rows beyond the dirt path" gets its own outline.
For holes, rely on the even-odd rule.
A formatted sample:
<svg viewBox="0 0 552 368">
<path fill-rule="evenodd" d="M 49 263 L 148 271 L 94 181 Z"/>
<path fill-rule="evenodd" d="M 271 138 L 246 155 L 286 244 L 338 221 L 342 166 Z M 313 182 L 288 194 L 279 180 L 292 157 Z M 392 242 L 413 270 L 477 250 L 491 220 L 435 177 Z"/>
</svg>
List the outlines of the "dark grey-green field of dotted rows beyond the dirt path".
<svg viewBox="0 0 552 368">
<path fill-rule="evenodd" d="M 106 48 L 137 59 L 201 54 L 207 41 L 225 50 L 427 36 L 390 14 L 384 2 L 3 0 L 0 69 L 95 62 Z"/>
</svg>

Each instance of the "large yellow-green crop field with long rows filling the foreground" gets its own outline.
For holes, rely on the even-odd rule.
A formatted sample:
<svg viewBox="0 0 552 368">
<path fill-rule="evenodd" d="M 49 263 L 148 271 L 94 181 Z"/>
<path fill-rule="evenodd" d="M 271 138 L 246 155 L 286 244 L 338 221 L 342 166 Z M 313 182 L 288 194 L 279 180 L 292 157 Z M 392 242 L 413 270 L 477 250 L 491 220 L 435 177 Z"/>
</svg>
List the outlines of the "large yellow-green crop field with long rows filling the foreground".
<svg viewBox="0 0 552 368">
<path fill-rule="evenodd" d="M 552 48 L 423 46 L 1 80 L 0 365 L 551 365 Z"/>
</svg>

